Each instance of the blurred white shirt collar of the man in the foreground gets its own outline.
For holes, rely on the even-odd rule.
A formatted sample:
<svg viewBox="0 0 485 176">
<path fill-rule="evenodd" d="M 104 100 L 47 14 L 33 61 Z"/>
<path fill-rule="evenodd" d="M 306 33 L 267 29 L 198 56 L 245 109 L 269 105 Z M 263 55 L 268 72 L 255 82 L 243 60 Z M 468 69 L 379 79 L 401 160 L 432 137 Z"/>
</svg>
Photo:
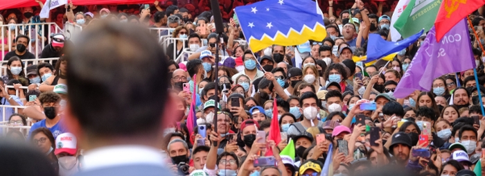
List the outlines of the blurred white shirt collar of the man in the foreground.
<svg viewBox="0 0 485 176">
<path fill-rule="evenodd" d="M 148 146 L 107 146 L 86 153 L 82 170 L 94 170 L 128 164 L 164 166 L 161 152 Z"/>
</svg>

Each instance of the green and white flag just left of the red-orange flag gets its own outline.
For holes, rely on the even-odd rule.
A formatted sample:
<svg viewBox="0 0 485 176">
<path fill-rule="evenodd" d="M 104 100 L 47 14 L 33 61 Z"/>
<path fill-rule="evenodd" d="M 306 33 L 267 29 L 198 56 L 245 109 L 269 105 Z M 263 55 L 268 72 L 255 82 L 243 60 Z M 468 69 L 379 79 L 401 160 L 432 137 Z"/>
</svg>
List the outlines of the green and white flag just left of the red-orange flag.
<svg viewBox="0 0 485 176">
<path fill-rule="evenodd" d="M 441 0 L 411 0 L 394 24 L 403 38 L 431 29 L 438 15 Z"/>
</svg>

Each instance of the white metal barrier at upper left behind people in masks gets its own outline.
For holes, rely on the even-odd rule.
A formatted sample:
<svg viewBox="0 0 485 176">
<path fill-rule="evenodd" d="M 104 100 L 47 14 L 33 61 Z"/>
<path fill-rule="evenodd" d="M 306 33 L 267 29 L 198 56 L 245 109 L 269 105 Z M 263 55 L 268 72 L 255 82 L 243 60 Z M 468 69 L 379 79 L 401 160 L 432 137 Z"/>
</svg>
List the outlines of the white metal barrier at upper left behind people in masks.
<svg viewBox="0 0 485 176">
<path fill-rule="evenodd" d="M 8 60 L 9 58 L 5 58 L 6 53 L 15 51 L 17 44 L 14 41 L 18 35 L 27 35 L 30 38 L 27 49 L 35 58 L 39 58 L 46 44 L 51 42 L 51 33 L 60 31 L 61 28 L 55 23 L 0 25 L 1 60 Z"/>
</svg>

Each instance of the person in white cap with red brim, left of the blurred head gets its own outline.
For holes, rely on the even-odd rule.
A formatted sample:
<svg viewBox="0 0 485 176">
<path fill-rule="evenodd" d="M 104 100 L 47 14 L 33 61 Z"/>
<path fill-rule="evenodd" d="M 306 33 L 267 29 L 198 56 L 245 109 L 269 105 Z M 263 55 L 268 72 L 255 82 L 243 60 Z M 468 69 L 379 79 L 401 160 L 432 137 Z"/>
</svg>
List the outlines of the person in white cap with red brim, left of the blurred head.
<svg viewBox="0 0 485 176">
<path fill-rule="evenodd" d="M 80 161 L 78 154 L 78 140 L 70 132 L 59 134 L 55 138 L 54 154 L 59 161 L 59 175 L 69 176 L 78 173 Z"/>
</svg>

